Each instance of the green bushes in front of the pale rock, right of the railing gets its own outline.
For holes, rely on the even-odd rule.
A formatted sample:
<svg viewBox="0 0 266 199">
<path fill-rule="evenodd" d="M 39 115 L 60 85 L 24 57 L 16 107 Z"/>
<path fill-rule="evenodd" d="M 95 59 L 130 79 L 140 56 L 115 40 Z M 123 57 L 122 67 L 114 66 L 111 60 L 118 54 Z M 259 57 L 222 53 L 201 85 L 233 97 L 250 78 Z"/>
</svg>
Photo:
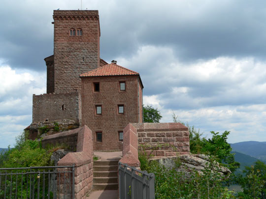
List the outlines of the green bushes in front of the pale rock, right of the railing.
<svg viewBox="0 0 266 199">
<path fill-rule="evenodd" d="M 143 162 L 143 160 L 141 161 Z M 215 160 L 211 158 L 209 166 L 202 170 L 191 171 L 188 177 L 182 171 L 176 169 L 180 167 L 180 162 L 176 162 L 176 168 L 166 169 L 160 166 L 157 161 L 147 162 L 146 170 L 153 172 L 155 179 L 156 199 L 234 199 L 233 192 L 228 191 L 223 181 Z"/>
</svg>

